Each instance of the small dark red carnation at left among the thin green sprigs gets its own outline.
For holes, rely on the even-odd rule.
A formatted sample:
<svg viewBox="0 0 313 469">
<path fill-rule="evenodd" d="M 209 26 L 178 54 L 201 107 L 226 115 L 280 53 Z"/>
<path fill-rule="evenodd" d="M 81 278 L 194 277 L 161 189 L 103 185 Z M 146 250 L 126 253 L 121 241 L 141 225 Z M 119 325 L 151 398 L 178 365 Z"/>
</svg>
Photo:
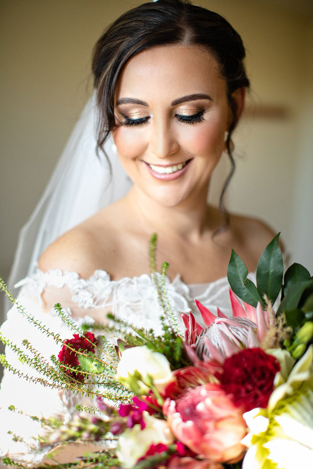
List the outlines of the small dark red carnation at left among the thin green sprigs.
<svg viewBox="0 0 313 469">
<path fill-rule="evenodd" d="M 86 332 L 84 335 L 73 334 L 74 339 L 66 339 L 63 341 L 65 345 L 61 348 L 58 358 L 61 363 L 70 366 L 71 368 L 77 368 L 79 366 L 78 354 L 76 351 L 80 350 L 81 352 L 92 352 L 95 351 L 95 346 L 98 344 L 98 340 L 91 332 Z M 70 348 L 74 350 L 71 350 Z M 76 351 L 75 351 L 76 350 Z M 61 366 L 61 368 L 65 368 Z M 84 375 L 83 373 L 76 373 L 75 371 L 67 370 L 66 374 L 80 382 L 83 382 Z"/>
</svg>

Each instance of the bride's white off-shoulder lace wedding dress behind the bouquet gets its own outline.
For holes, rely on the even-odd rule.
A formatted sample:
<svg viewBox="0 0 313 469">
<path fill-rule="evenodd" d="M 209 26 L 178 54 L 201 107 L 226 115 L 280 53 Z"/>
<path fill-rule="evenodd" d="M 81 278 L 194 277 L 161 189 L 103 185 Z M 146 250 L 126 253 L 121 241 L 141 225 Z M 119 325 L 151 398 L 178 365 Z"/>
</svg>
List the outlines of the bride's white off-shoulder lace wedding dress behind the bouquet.
<svg viewBox="0 0 313 469">
<path fill-rule="evenodd" d="M 255 273 L 249 273 L 248 278 L 255 282 Z M 58 318 L 53 308 L 55 303 L 61 303 L 65 312 L 78 325 L 94 321 L 103 322 L 106 313 L 112 311 L 132 325 L 153 328 L 156 333 L 161 332 L 159 318 L 162 309 L 154 281 L 147 274 L 115 281 L 110 279 L 107 272 L 97 270 L 89 279 L 84 280 L 76 272 L 42 272 L 37 269 L 35 274 L 20 281 L 18 286 L 22 287 L 18 303 L 50 331 L 59 333 L 61 340 L 71 338 L 73 332 Z M 180 313 L 188 313 L 190 310 L 201 323 L 194 298 L 215 314 L 216 307 L 227 316 L 231 314 L 226 277 L 208 284 L 186 285 L 177 275 L 173 282 L 167 279 L 166 289 L 181 325 Z M 8 318 L 1 326 L 0 332 L 24 351 L 26 348 L 22 341 L 29 340 L 46 359 L 51 355 L 57 356 L 61 349 L 60 343 L 55 343 L 51 337 L 34 327 L 16 306 L 8 312 Z M 22 363 L 8 346 L 6 359 L 14 369 L 22 371 L 24 375 L 34 378 L 43 376 Z M 15 458 L 22 457 L 32 463 L 39 462 L 44 454 L 39 449 L 30 450 L 27 444 L 34 444 L 31 437 L 38 435 L 40 425 L 25 414 L 45 417 L 61 414 L 65 419 L 69 419 L 75 412 L 76 404 L 81 402 L 79 399 L 79 396 L 72 393 L 59 393 L 58 390 L 26 381 L 5 370 L 0 388 L 0 456 L 15 454 Z M 15 411 L 8 409 L 11 405 L 15 406 Z M 23 414 L 19 413 L 20 411 Z M 13 441 L 14 435 L 8 434 L 8 431 L 21 436 L 24 441 Z"/>
</svg>

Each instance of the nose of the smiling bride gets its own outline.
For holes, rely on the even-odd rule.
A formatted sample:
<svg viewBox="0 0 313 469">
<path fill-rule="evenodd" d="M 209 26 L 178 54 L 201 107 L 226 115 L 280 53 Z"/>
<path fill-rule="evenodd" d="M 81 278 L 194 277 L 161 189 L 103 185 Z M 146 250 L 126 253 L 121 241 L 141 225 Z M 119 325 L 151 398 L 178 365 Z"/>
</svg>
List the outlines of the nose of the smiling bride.
<svg viewBox="0 0 313 469">
<path fill-rule="evenodd" d="M 160 159 L 176 153 L 179 149 L 177 139 L 166 121 L 153 122 L 149 140 L 150 152 Z"/>
</svg>

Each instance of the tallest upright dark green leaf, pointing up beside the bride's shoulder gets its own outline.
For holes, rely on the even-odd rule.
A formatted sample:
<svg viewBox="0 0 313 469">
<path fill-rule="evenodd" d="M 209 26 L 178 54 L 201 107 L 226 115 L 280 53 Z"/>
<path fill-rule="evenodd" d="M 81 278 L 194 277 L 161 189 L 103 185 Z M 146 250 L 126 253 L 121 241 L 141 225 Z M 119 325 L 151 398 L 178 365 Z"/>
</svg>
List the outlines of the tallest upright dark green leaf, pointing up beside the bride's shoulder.
<svg viewBox="0 0 313 469">
<path fill-rule="evenodd" d="M 283 265 L 282 253 L 278 244 L 279 235 L 280 233 L 276 234 L 262 252 L 256 272 L 258 291 L 262 298 L 264 294 L 267 295 L 272 304 L 282 287 Z"/>
</svg>

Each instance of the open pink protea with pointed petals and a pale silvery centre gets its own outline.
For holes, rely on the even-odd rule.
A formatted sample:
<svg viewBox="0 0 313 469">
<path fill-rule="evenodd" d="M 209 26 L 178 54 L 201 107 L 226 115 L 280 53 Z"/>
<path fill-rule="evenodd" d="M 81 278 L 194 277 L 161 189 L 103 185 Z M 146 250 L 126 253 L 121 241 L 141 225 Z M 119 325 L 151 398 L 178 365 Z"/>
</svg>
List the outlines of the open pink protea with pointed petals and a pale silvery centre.
<svg viewBox="0 0 313 469">
<path fill-rule="evenodd" d="M 219 308 L 216 317 L 195 300 L 206 328 L 196 323 L 192 313 L 189 313 L 189 318 L 182 314 L 186 327 L 186 351 L 192 361 L 209 359 L 222 364 L 225 358 L 244 348 L 260 347 L 269 327 L 274 323 L 274 310 L 264 311 L 260 302 L 256 308 L 247 303 L 242 305 L 231 288 L 229 296 L 232 309 L 230 318 Z"/>
</svg>

